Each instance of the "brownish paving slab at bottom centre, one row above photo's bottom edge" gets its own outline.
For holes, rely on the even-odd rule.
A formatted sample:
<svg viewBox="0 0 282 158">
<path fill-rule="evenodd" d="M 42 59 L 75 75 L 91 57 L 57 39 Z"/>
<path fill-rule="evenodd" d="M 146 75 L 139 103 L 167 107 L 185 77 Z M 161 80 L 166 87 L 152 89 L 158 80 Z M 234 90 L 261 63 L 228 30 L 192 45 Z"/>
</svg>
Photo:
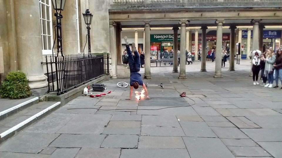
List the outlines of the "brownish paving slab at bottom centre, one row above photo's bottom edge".
<svg viewBox="0 0 282 158">
<path fill-rule="evenodd" d="M 140 136 L 138 149 L 186 149 L 181 137 Z"/>
</svg>

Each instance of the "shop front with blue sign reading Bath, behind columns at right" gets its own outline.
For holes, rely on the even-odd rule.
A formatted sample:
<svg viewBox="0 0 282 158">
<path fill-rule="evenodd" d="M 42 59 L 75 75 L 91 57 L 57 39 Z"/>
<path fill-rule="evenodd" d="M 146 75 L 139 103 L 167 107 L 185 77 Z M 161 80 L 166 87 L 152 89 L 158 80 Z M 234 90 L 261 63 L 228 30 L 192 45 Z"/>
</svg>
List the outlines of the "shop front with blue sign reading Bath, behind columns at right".
<svg viewBox="0 0 282 158">
<path fill-rule="evenodd" d="M 242 54 L 248 54 L 249 52 L 246 52 L 246 48 L 248 46 L 247 43 L 247 36 L 248 31 L 242 30 Z M 253 37 L 253 31 L 251 31 L 251 50 L 252 50 L 252 39 Z M 270 47 L 273 48 L 274 51 L 277 51 L 281 46 L 281 30 L 263 30 L 263 52 L 265 49 L 268 49 Z"/>
</svg>

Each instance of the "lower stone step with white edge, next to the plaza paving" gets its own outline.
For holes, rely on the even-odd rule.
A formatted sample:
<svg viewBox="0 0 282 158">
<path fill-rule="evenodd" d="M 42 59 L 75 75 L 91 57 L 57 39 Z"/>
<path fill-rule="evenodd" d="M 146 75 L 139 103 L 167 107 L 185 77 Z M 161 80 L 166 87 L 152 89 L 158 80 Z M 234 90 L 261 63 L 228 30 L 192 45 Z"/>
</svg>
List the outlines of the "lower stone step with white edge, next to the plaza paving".
<svg viewBox="0 0 282 158">
<path fill-rule="evenodd" d="M 0 142 L 11 138 L 20 130 L 40 120 L 60 106 L 61 102 L 38 102 L 0 120 Z"/>
</svg>

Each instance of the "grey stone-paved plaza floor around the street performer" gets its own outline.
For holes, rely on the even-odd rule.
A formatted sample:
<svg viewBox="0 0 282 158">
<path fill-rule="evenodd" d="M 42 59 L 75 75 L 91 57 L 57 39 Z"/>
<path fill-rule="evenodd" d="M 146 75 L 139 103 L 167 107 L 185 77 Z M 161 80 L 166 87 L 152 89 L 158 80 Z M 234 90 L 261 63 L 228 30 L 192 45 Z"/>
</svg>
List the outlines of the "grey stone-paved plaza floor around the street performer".
<svg viewBox="0 0 282 158">
<path fill-rule="evenodd" d="M 129 87 L 116 84 L 128 78 L 106 81 L 110 94 L 73 99 L 1 144 L 0 157 L 281 158 L 282 90 L 253 85 L 250 64 L 228 71 L 226 62 L 224 78 L 213 78 L 211 61 L 207 72 L 187 65 L 187 79 L 172 66 L 151 67 L 144 83 L 165 88 L 148 87 L 150 100 L 125 100 Z"/>
</svg>

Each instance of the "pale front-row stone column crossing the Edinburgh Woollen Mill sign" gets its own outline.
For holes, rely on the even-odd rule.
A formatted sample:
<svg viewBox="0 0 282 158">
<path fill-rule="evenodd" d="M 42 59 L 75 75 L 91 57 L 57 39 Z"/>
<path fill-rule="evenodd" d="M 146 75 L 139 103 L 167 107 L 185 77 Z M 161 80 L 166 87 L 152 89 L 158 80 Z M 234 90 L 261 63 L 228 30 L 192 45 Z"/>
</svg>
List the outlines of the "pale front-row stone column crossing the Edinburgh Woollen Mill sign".
<svg viewBox="0 0 282 158">
<path fill-rule="evenodd" d="M 224 20 L 216 20 L 216 58 L 214 78 L 223 78 L 221 74 L 221 53 L 222 53 L 222 25 Z"/>
</svg>

